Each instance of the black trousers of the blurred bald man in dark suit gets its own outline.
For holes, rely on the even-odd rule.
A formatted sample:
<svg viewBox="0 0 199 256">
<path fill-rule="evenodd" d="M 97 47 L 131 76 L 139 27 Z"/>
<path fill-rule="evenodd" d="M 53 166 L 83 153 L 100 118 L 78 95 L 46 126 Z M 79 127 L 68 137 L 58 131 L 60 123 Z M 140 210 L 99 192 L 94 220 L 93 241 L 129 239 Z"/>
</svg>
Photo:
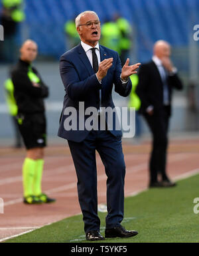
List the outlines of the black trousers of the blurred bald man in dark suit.
<svg viewBox="0 0 199 256">
<path fill-rule="evenodd" d="M 166 151 L 168 146 L 169 110 L 165 106 L 153 116 L 144 115 L 153 134 L 153 147 L 149 162 L 150 182 L 158 181 L 158 174 L 162 180 L 168 180 L 166 175 Z"/>
</svg>

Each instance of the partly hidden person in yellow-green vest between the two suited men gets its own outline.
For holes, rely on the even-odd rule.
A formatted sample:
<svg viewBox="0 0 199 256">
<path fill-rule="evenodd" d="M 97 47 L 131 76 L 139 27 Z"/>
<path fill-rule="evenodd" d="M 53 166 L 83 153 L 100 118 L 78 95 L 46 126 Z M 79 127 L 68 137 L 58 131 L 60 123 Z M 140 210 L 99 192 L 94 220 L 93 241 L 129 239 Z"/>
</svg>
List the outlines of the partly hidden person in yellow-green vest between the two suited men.
<svg viewBox="0 0 199 256">
<path fill-rule="evenodd" d="M 141 100 L 135 92 L 135 90 L 137 88 L 137 84 L 139 82 L 139 77 L 137 74 L 131 74 L 130 79 L 131 79 L 131 83 L 132 83 L 132 90 L 129 95 L 128 107 L 135 108 L 135 137 L 140 138 L 140 136 L 141 136 L 141 120 L 140 120 L 138 111 L 139 111 L 139 108 L 141 107 Z"/>
</svg>

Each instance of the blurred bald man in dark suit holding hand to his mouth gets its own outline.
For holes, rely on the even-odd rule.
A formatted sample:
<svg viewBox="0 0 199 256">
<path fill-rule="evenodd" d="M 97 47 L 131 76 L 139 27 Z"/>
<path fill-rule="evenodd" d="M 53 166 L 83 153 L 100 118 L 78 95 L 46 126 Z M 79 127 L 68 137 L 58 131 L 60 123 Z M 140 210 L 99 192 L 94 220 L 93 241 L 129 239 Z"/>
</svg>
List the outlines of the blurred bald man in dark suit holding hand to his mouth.
<svg viewBox="0 0 199 256">
<path fill-rule="evenodd" d="M 172 89 L 182 89 L 177 70 L 170 61 L 170 45 L 157 41 L 152 61 L 139 69 L 139 84 L 136 92 L 141 98 L 140 112 L 145 117 L 153 134 L 153 150 L 149 163 L 152 187 L 175 186 L 166 175 L 166 149 L 168 145 L 168 122 L 171 114 Z M 158 180 L 161 174 L 161 181 Z"/>
</svg>

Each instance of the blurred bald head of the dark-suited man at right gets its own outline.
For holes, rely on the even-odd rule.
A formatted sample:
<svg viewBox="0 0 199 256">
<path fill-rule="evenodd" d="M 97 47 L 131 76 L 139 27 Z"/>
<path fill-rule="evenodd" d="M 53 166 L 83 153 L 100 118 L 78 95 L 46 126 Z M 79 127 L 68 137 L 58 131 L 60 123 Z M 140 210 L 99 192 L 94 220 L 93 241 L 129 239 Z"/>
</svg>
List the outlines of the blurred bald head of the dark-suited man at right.
<svg viewBox="0 0 199 256">
<path fill-rule="evenodd" d="M 170 57 L 170 45 L 166 41 L 159 40 L 153 47 L 153 54 L 160 60 Z"/>
</svg>

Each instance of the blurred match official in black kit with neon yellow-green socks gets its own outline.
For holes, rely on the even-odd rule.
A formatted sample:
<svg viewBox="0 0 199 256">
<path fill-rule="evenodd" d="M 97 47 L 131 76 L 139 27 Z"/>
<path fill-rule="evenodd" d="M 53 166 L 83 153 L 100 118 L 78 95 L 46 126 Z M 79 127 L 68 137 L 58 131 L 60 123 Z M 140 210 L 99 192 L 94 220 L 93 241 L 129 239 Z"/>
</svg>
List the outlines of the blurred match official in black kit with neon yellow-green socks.
<svg viewBox="0 0 199 256">
<path fill-rule="evenodd" d="M 17 121 L 27 148 L 23 163 L 24 203 L 51 203 L 55 201 L 42 193 L 44 147 L 46 146 L 46 117 L 44 98 L 48 87 L 42 81 L 32 62 L 36 59 L 37 45 L 27 40 L 21 47 L 21 58 L 11 72 Z"/>
</svg>

